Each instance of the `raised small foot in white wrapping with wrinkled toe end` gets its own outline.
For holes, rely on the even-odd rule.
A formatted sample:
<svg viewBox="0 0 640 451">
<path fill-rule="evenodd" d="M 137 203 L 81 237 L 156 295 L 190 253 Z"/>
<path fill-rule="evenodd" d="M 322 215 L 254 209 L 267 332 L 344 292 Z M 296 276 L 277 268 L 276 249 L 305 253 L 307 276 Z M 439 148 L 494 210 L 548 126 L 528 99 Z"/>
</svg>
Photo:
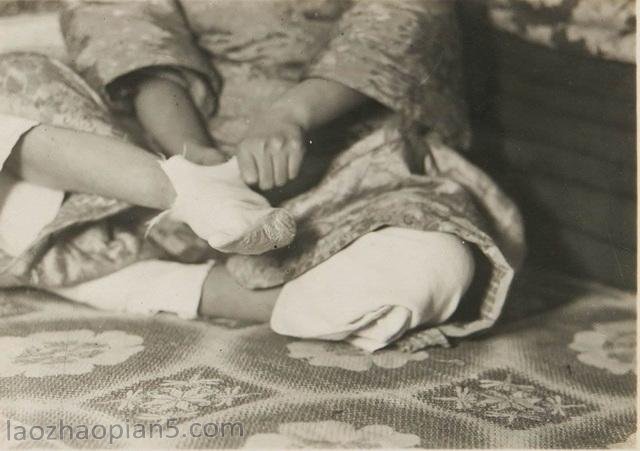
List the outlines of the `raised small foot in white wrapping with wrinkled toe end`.
<svg viewBox="0 0 640 451">
<path fill-rule="evenodd" d="M 170 215 L 221 252 L 258 255 L 288 245 L 295 221 L 247 187 L 235 158 L 199 166 L 181 156 L 160 162 L 176 192 Z"/>
</svg>

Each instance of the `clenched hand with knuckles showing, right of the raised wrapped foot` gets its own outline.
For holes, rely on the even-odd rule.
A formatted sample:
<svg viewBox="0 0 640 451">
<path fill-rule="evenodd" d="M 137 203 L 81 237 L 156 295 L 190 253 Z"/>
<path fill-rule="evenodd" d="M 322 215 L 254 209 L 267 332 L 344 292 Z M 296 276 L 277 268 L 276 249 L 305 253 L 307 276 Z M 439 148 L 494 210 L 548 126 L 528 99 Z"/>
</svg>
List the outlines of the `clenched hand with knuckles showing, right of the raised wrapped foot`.
<svg viewBox="0 0 640 451">
<path fill-rule="evenodd" d="M 255 117 L 238 146 L 240 173 L 247 185 L 266 191 L 295 179 L 306 151 L 305 129 L 277 108 Z"/>
</svg>

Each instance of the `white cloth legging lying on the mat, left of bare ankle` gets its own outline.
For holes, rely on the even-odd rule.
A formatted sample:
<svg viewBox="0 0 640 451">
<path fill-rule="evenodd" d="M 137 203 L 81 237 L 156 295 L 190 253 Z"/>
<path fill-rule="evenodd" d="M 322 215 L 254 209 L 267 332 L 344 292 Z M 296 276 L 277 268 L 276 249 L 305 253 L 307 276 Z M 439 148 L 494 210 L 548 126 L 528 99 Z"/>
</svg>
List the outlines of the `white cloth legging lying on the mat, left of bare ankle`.
<svg viewBox="0 0 640 451">
<path fill-rule="evenodd" d="M 194 319 L 213 265 L 213 261 L 191 265 L 143 260 L 108 276 L 52 291 L 102 310 L 147 315 L 168 312 Z"/>
</svg>

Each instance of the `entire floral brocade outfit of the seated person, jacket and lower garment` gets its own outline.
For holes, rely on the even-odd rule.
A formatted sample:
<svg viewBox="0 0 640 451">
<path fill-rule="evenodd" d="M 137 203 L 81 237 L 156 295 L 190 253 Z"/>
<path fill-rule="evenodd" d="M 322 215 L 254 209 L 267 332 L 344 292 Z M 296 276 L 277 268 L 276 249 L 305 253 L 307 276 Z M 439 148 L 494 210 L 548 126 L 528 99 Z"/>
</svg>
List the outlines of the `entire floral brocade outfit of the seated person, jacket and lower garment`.
<svg viewBox="0 0 640 451">
<path fill-rule="evenodd" d="M 71 2 L 62 30 L 82 78 L 42 56 L 0 56 L 1 108 L 142 142 L 119 125 L 132 80 L 170 70 L 184 77 L 214 138 L 232 154 L 247 119 L 305 77 L 367 94 L 379 105 L 315 133 L 300 180 L 267 193 L 295 217 L 294 242 L 261 256 L 233 255 L 227 268 L 246 287 L 273 287 L 381 227 L 455 234 L 476 246 L 488 269 L 473 302 L 477 314 L 401 346 L 446 344 L 445 337 L 497 320 L 524 252 L 517 208 L 454 150 L 468 141 L 454 18 L 449 1 Z M 201 240 L 168 221 L 145 240 L 149 216 L 72 194 L 32 249 L 5 256 L 2 283 L 71 285 L 143 258 L 206 257 Z"/>
</svg>

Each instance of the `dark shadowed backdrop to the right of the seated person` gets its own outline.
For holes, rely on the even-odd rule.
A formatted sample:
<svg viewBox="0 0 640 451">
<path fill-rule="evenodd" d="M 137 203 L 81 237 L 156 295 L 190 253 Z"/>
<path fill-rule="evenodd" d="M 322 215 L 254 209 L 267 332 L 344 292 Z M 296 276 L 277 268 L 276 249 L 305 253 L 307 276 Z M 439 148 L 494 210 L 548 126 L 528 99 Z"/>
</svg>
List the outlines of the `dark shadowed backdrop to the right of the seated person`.
<svg viewBox="0 0 640 451">
<path fill-rule="evenodd" d="M 635 288 L 635 65 L 493 30 L 486 4 L 458 4 L 470 158 L 520 206 L 529 266 Z"/>
</svg>

